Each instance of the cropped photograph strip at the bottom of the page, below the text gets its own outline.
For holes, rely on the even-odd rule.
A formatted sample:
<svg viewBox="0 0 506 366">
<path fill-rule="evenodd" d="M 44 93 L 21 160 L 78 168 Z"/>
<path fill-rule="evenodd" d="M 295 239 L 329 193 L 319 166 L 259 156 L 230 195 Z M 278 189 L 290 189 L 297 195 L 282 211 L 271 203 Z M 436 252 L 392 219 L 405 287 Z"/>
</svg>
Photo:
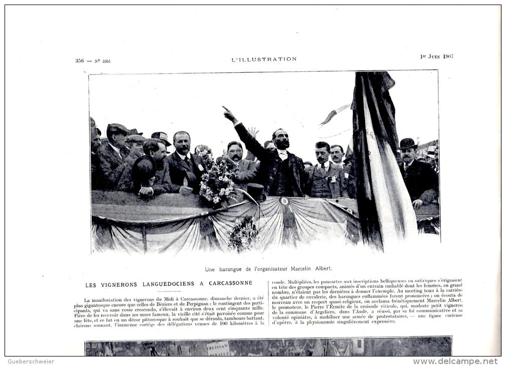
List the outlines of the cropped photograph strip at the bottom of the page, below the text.
<svg viewBox="0 0 506 366">
<path fill-rule="evenodd" d="M 87 356 L 451 356 L 445 337 L 89 341 Z"/>
</svg>

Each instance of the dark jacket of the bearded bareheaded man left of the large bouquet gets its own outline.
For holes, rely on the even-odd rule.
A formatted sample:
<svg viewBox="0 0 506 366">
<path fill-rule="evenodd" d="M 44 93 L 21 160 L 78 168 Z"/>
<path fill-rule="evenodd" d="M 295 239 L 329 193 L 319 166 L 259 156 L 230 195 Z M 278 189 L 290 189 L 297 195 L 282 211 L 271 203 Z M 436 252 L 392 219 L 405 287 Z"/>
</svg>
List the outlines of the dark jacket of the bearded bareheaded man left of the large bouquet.
<svg viewBox="0 0 506 366">
<path fill-rule="evenodd" d="M 193 188 L 193 193 L 200 193 L 200 181 L 202 174 L 207 173 L 204 160 L 194 154 L 190 154 L 190 161 L 187 164 L 177 152 L 165 158 L 171 177 L 170 193 L 179 192 L 185 178 L 188 180 L 188 186 Z"/>
</svg>

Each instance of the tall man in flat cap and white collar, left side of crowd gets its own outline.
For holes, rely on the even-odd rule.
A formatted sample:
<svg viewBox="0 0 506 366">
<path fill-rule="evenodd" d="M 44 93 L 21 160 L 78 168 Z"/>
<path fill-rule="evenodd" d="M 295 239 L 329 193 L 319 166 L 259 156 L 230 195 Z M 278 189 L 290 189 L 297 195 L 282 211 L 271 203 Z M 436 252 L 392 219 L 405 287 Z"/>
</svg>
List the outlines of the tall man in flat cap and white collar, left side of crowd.
<svg viewBox="0 0 506 366">
<path fill-rule="evenodd" d="M 123 172 L 123 157 L 120 149 L 125 146 L 130 130 L 120 124 L 107 125 L 107 143 L 99 149 L 100 189 L 111 190 L 116 187 Z"/>
</svg>

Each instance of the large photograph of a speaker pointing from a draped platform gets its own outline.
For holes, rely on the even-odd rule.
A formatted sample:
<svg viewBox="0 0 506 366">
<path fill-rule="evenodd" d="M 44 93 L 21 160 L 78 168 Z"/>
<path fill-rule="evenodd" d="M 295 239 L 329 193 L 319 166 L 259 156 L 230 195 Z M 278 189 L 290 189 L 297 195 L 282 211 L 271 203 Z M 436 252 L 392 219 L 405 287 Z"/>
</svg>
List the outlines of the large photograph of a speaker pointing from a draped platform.
<svg viewBox="0 0 506 366">
<path fill-rule="evenodd" d="M 92 252 L 441 233 L 437 70 L 90 75 Z M 128 106 L 128 107 L 127 107 Z"/>
</svg>

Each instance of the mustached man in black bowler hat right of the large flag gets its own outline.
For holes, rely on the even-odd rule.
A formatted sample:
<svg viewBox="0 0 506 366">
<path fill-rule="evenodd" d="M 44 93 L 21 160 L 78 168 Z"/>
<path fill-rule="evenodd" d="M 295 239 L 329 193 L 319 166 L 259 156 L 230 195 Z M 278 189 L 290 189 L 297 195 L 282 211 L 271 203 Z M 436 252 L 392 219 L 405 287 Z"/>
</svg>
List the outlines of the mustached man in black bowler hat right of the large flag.
<svg viewBox="0 0 506 366">
<path fill-rule="evenodd" d="M 401 140 L 399 147 L 403 161 L 399 164 L 402 179 L 411 197 L 413 208 L 419 209 L 421 205 L 429 204 L 437 198 L 438 176 L 429 164 L 414 158 L 418 145 L 413 139 Z"/>
</svg>

